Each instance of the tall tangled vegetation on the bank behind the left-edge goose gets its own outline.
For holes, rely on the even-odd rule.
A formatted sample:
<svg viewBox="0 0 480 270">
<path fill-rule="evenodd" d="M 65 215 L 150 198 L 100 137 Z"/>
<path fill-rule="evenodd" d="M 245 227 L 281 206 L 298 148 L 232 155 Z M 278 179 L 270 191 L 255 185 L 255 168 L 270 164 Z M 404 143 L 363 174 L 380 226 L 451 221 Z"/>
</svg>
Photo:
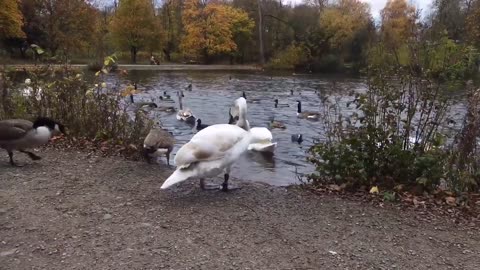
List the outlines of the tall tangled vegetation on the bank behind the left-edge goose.
<svg viewBox="0 0 480 270">
<path fill-rule="evenodd" d="M 153 123 L 141 108 L 125 102 L 119 84 L 105 81 L 115 58 L 105 58 L 104 64 L 94 78 L 68 65 L 0 70 L 0 119 L 49 116 L 65 124 L 64 146 L 137 157 Z"/>
</svg>

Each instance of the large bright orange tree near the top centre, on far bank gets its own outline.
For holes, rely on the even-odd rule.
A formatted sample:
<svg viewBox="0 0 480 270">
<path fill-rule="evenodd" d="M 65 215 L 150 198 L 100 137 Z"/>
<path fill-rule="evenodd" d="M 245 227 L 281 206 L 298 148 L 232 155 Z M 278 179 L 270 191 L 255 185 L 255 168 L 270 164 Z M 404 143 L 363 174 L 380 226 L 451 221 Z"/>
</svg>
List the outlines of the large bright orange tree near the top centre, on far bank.
<svg viewBox="0 0 480 270">
<path fill-rule="evenodd" d="M 254 24 L 241 9 L 225 4 L 186 0 L 182 14 L 185 34 L 181 48 L 185 55 L 210 56 L 230 54 L 237 50 L 235 36 L 251 33 Z"/>
</svg>

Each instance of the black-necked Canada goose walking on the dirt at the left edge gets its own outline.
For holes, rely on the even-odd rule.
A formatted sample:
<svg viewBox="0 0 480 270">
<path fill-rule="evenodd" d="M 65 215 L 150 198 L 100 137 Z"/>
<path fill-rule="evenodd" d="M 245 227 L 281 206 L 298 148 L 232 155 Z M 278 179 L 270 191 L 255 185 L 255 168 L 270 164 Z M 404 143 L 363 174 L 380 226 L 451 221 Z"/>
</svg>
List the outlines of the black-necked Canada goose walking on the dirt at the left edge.
<svg viewBox="0 0 480 270">
<path fill-rule="evenodd" d="M 50 118 L 39 117 L 35 122 L 24 119 L 9 119 L 0 121 L 0 148 L 7 150 L 10 164 L 18 166 L 13 161 L 13 151 L 27 154 L 33 160 L 41 157 L 25 149 L 46 144 L 57 133 L 65 133 L 62 124 Z"/>
</svg>

